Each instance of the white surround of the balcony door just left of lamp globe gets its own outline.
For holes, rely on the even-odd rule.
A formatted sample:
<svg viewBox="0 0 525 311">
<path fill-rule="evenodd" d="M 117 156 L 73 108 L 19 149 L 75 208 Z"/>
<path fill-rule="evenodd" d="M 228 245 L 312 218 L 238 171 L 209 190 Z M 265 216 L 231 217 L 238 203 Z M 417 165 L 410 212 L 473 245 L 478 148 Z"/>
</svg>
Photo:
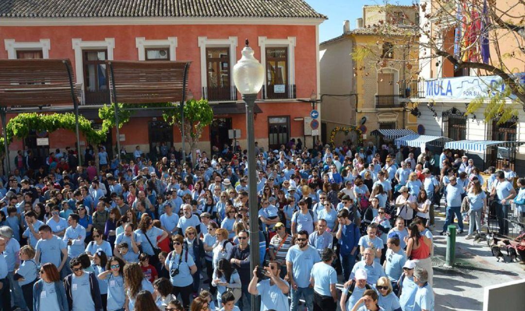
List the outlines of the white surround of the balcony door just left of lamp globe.
<svg viewBox="0 0 525 311">
<path fill-rule="evenodd" d="M 208 37 L 198 37 L 197 40 L 198 47 L 201 48 L 201 90 L 208 87 L 208 73 L 206 68 L 206 48 L 208 47 L 229 47 L 230 85 L 234 87 L 233 66 L 237 62 L 237 37 L 228 37 L 228 39 L 208 39 Z"/>
</svg>

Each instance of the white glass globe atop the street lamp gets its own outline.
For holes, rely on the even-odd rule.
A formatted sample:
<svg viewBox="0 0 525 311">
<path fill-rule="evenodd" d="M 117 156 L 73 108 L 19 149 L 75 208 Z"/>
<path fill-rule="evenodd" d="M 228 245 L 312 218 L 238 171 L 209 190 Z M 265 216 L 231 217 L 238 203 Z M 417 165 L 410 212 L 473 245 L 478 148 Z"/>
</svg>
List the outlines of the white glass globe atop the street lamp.
<svg viewBox="0 0 525 311">
<path fill-rule="evenodd" d="M 254 50 L 246 46 L 241 51 L 243 55 L 233 67 L 233 81 L 241 94 L 257 94 L 264 82 L 264 68 L 255 59 Z"/>
</svg>

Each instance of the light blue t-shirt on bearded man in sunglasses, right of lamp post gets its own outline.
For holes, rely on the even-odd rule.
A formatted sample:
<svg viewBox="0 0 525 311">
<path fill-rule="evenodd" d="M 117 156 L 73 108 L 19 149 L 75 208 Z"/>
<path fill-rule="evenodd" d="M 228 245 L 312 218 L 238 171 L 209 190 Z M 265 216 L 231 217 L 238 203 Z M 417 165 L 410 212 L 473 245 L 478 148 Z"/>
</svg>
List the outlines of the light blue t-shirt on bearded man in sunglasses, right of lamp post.
<svg viewBox="0 0 525 311">
<path fill-rule="evenodd" d="M 298 287 L 308 287 L 310 285 L 310 272 L 313 264 L 321 261 L 321 257 L 316 249 L 308 246 L 304 251 L 299 249 L 299 245 L 293 245 L 286 254 L 286 261 L 292 263 L 293 280 Z"/>
</svg>

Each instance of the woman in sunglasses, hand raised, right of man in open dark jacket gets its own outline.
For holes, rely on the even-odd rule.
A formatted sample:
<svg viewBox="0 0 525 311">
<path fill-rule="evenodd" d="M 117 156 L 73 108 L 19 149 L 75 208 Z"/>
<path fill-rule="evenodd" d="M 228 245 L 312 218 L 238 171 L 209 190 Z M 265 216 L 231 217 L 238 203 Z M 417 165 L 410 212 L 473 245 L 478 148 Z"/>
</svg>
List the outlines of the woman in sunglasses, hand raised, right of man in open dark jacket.
<svg viewBox="0 0 525 311">
<path fill-rule="evenodd" d="M 108 311 L 118 311 L 124 309 L 124 262 L 117 256 L 110 257 L 106 264 L 105 271 L 98 274 L 98 280 L 105 281 L 108 286 L 107 299 L 104 307 Z M 99 283 L 100 284 L 100 283 Z"/>
</svg>

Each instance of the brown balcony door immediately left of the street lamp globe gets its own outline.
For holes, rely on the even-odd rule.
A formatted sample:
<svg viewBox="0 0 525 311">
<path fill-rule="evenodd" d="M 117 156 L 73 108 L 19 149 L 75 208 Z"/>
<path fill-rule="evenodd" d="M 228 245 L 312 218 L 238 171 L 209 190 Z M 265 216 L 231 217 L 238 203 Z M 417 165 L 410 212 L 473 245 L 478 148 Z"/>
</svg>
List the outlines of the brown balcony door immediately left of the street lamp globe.
<svg viewBox="0 0 525 311">
<path fill-rule="evenodd" d="M 230 55 L 228 47 L 206 48 L 208 86 L 204 93 L 209 101 L 232 100 Z"/>
</svg>

